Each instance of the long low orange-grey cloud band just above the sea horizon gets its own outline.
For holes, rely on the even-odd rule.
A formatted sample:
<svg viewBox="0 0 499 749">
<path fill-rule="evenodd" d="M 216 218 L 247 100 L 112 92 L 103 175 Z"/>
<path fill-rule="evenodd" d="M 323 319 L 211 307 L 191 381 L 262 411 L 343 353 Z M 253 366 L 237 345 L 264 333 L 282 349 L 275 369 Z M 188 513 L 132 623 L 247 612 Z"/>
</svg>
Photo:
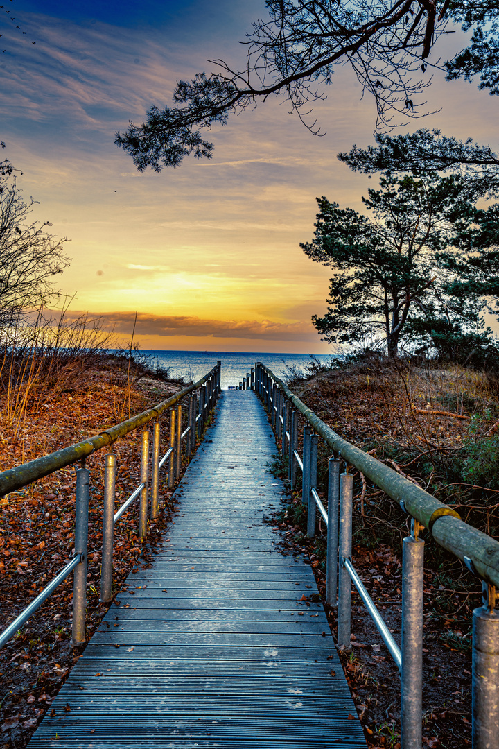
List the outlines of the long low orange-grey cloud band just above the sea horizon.
<svg viewBox="0 0 499 749">
<path fill-rule="evenodd" d="M 82 315 L 82 312 L 68 312 L 67 319 Z M 90 315 L 100 318 L 102 324 L 114 333 L 131 336 L 135 322 L 135 312 L 104 312 Z M 272 320 L 210 320 L 195 315 L 149 315 L 139 313 L 135 325 L 137 336 L 189 336 L 195 338 L 259 339 L 266 341 L 316 340 L 309 323 L 280 323 Z"/>
</svg>

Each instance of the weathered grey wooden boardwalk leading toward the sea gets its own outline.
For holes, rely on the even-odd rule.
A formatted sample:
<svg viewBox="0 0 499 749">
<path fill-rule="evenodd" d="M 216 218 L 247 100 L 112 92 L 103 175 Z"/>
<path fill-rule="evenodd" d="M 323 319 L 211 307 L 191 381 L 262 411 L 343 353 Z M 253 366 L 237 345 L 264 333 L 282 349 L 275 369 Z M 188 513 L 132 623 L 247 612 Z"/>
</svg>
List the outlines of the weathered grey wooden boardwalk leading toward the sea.
<svg viewBox="0 0 499 749">
<path fill-rule="evenodd" d="M 310 564 L 275 551 L 273 454 L 254 393 L 224 391 L 168 539 L 30 749 L 366 747 L 322 605 L 301 601 L 317 592 Z"/>
</svg>

